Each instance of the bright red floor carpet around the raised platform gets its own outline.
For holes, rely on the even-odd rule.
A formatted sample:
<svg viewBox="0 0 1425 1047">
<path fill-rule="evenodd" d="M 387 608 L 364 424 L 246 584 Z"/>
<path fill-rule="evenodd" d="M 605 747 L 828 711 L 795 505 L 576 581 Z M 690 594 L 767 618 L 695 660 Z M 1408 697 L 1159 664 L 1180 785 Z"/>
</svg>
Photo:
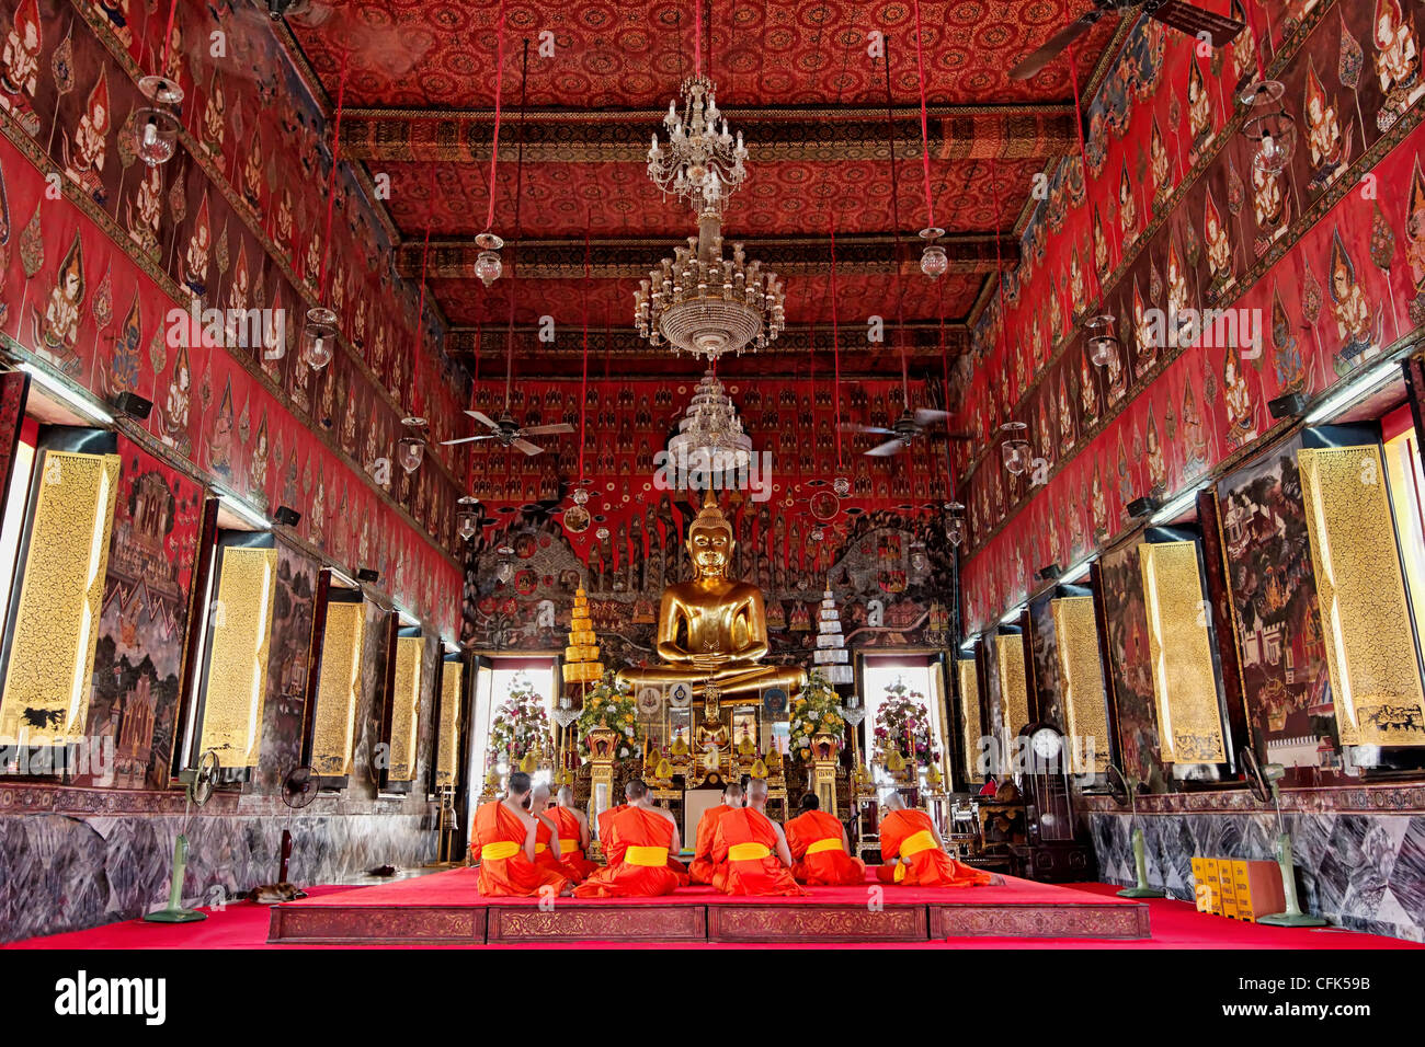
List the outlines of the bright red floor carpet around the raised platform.
<svg viewBox="0 0 1425 1047">
<path fill-rule="evenodd" d="M 432 880 L 433 877 L 416 877 L 412 880 L 403 880 L 393 885 L 382 885 L 380 892 L 389 892 L 398 887 L 413 886 L 420 880 Z M 437 885 L 439 886 L 439 885 Z M 1043 886 L 1043 885 L 1035 885 Z M 443 889 L 443 887 L 442 887 Z M 1082 883 L 1074 885 L 1072 889 L 1084 890 L 1094 896 L 1094 900 L 1104 900 L 1106 897 L 1113 897 L 1113 892 L 1117 887 L 1112 887 L 1102 883 Z M 321 902 L 323 897 L 329 897 L 336 893 L 351 893 L 351 892 L 370 892 L 378 890 L 376 887 L 341 887 L 341 886 L 322 886 L 314 887 L 311 890 L 312 900 Z M 829 889 L 828 889 L 829 890 Z M 865 892 L 861 889 L 841 889 L 851 890 L 859 899 L 865 897 Z M 888 896 L 892 890 L 888 889 Z M 982 890 L 992 890 L 990 887 L 983 887 Z M 1000 889 L 993 889 L 1000 890 Z M 1063 887 L 1054 889 L 1063 890 Z M 690 889 L 691 892 L 691 889 Z M 906 895 L 912 893 L 909 889 Z M 916 892 L 923 893 L 923 892 Z M 938 897 L 943 900 L 943 895 L 938 893 Z M 1019 896 L 1023 899 L 1023 895 Z M 351 899 L 348 899 L 351 900 Z M 467 900 L 467 899 L 465 899 Z M 714 899 L 707 896 L 700 896 L 700 903 L 715 905 Z M 744 899 L 745 902 L 747 899 Z M 908 899 L 909 900 L 909 899 Z M 590 902 L 590 905 L 600 905 L 598 902 Z M 1402 942 L 1399 939 L 1377 937 L 1372 934 L 1358 934 L 1354 932 L 1342 930 L 1305 930 L 1292 927 L 1263 927 L 1253 923 L 1238 923 L 1235 920 L 1227 920 L 1220 916 L 1206 916 L 1198 913 L 1187 902 L 1176 902 L 1170 899 L 1164 900 L 1150 900 L 1149 909 L 1151 912 L 1153 920 L 1153 939 L 1143 942 L 1099 942 L 1099 940 L 1083 940 L 1083 939 L 1022 939 L 1022 937 L 973 937 L 973 939 L 950 939 L 949 942 L 928 942 L 928 943 L 895 943 L 892 946 L 869 946 L 869 947 L 893 947 L 893 949 L 943 949 L 943 947 L 968 947 L 968 949 L 1419 949 L 1411 942 Z M 266 934 L 269 926 L 269 910 L 266 906 L 256 906 L 248 902 L 239 902 L 227 906 L 221 912 L 208 910 L 211 915 L 202 923 L 191 923 L 185 926 L 172 924 L 158 924 L 158 923 L 144 923 L 142 920 L 130 920 L 127 923 L 113 923 L 104 927 L 94 927 L 91 930 L 71 932 L 66 934 L 53 934 L 48 937 L 28 939 L 26 942 L 17 942 L 7 949 L 289 949 L 291 946 L 269 946 L 266 944 Z M 574 947 L 584 949 L 590 946 L 597 946 L 597 942 L 581 942 L 570 946 L 543 946 L 543 947 Z M 667 947 L 658 943 L 646 943 L 653 947 Z M 445 947 L 459 947 L 459 946 L 445 946 Z M 487 949 L 496 947 L 512 947 L 512 946 L 484 946 Z M 637 944 L 618 943 L 618 947 L 638 947 Z M 718 944 L 703 944 L 703 949 L 717 949 L 717 947 L 737 947 L 737 946 L 718 946 Z M 822 947 L 836 947 L 836 946 L 822 946 Z M 861 946 L 868 947 L 868 946 Z"/>
</svg>

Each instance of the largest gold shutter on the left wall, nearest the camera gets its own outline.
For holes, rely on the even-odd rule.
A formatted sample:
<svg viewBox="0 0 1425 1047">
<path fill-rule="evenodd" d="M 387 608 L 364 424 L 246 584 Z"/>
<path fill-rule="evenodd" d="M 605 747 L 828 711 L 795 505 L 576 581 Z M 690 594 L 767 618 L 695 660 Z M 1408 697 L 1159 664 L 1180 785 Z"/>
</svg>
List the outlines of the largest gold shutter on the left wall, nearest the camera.
<svg viewBox="0 0 1425 1047">
<path fill-rule="evenodd" d="M 47 450 L 34 481 L 0 739 L 43 745 L 78 741 L 87 728 L 118 456 Z"/>
</svg>

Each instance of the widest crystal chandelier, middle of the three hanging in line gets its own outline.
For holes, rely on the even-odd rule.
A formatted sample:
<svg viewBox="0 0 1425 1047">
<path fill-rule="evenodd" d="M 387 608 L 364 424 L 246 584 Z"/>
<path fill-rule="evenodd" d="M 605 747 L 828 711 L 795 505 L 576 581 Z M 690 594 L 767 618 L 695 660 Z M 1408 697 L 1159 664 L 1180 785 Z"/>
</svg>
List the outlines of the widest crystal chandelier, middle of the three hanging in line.
<svg viewBox="0 0 1425 1047">
<path fill-rule="evenodd" d="M 787 292 L 777 274 L 748 262 L 742 245 L 722 258 L 722 222 L 714 211 L 698 218 L 698 235 L 664 258 L 634 292 L 634 325 L 650 345 L 707 358 L 762 349 L 787 325 Z"/>
</svg>

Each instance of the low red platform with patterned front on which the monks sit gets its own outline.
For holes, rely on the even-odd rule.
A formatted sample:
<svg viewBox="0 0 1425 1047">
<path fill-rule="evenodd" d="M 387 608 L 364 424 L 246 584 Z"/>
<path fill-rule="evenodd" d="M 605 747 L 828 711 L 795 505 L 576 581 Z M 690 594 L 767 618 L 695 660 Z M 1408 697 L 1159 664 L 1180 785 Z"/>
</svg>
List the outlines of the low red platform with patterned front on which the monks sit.
<svg viewBox="0 0 1425 1047">
<path fill-rule="evenodd" d="M 1149 907 L 1006 877 L 966 889 L 812 887 L 808 897 L 730 897 L 684 887 L 664 897 L 546 902 L 484 897 L 476 869 L 323 893 L 272 907 L 268 942 L 502 944 L 557 942 L 875 943 L 949 937 L 1147 939 Z"/>
</svg>

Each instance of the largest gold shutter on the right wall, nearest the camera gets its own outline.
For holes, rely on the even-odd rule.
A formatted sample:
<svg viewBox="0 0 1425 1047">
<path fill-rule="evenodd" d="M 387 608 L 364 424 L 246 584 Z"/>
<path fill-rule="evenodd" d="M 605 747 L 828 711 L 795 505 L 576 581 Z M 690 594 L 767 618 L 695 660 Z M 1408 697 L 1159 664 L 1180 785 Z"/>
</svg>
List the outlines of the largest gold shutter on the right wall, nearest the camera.
<svg viewBox="0 0 1425 1047">
<path fill-rule="evenodd" d="M 1425 745 L 1425 698 L 1379 449 L 1302 447 L 1311 566 L 1342 745 Z"/>
</svg>

